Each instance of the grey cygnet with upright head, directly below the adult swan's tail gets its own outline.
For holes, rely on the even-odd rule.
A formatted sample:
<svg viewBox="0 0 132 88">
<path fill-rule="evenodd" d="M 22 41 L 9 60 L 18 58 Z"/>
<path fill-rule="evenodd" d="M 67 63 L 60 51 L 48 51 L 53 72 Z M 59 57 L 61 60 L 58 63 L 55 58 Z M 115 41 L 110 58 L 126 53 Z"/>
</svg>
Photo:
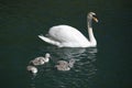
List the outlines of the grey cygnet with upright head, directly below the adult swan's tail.
<svg viewBox="0 0 132 88">
<path fill-rule="evenodd" d="M 50 62 L 50 57 L 51 57 L 51 55 L 48 53 L 46 53 L 45 57 L 43 57 L 43 56 L 36 57 L 33 61 L 31 61 L 30 64 L 33 64 L 35 66 L 36 65 L 43 65 L 43 64 Z"/>
</svg>

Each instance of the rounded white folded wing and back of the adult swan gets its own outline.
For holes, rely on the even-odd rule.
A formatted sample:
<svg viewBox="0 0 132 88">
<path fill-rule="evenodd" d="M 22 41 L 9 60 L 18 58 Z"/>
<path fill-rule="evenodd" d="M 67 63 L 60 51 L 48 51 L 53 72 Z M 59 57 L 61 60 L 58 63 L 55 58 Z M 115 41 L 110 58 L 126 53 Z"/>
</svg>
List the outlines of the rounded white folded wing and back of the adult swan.
<svg viewBox="0 0 132 88">
<path fill-rule="evenodd" d="M 56 25 L 50 29 L 48 34 L 52 40 L 66 43 L 70 46 L 73 43 L 78 45 L 88 45 L 88 40 L 75 28 L 69 25 Z"/>
</svg>

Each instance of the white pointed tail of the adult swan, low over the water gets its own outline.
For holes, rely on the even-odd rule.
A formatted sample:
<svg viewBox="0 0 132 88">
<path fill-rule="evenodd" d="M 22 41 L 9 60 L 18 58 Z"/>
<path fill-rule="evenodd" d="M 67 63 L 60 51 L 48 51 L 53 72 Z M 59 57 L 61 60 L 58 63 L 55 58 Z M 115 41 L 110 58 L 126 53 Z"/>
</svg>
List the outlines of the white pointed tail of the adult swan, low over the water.
<svg viewBox="0 0 132 88">
<path fill-rule="evenodd" d="M 58 47 L 61 47 L 61 43 L 55 41 L 55 40 L 52 40 L 50 37 L 45 37 L 43 34 L 38 35 L 38 37 L 50 44 L 53 44 L 53 45 L 57 45 Z"/>
</svg>

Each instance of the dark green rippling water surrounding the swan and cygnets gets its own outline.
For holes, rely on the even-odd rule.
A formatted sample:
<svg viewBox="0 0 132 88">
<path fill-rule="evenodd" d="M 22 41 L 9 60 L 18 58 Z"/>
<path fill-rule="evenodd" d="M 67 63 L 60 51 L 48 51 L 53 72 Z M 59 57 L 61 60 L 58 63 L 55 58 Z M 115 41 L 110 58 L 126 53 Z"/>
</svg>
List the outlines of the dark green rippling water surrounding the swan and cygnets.
<svg viewBox="0 0 132 88">
<path fill-rule="evenodd" d="M 96 48 L 57 48 L 41 41 L 56 24 L 68 24 L 87 36 L 87 12 L 94 23 Z M 127 0 L 1 0 L 0 88 L 131 88 L 132 8 Z M 29 62 L 51 53 L 34 77 Z M 69 72 L 58 72 L 59 59 L 76 58 Z"/>
</svg>

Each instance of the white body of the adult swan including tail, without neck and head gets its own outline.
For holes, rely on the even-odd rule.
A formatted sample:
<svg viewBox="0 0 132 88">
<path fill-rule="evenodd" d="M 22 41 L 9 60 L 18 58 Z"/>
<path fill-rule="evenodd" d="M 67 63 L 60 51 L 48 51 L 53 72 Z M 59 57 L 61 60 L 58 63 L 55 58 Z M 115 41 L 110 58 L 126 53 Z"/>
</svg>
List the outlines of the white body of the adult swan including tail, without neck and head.
<svg viewBox="0 0 132 88">
<path fill-rule="evenodd" d="M 58 47 L 86 47 L 88 45 L 88 40 L 69 25 L 53 26 L 48 31 L 48 37 L 43 35 L 38 35 L 38 37 Z"/>
</svg>

